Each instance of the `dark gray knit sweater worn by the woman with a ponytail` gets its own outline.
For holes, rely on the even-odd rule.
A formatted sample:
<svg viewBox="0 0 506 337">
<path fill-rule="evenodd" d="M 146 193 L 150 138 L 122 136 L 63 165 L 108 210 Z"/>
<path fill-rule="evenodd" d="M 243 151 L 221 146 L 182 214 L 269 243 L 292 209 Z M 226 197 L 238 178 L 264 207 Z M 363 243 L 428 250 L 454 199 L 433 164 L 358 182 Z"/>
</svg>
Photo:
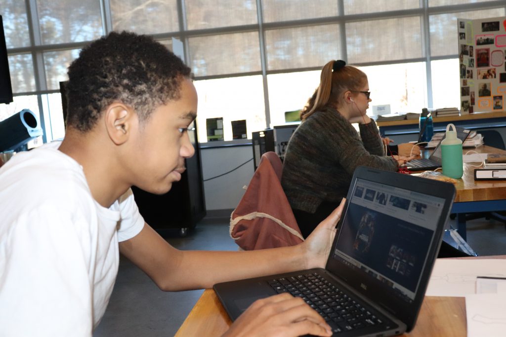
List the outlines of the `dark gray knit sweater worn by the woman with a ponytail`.
<svg viewBox="0 0 506 337">
<path fill-rule="evenodd" d="M 360 135 L 337 110 L 308 117 L 286 148 L 281 184 L 292 209 L 314 213 L 323 202 L 339 203 L 348 194 L 357 166 L 396 171 L 385 156 L 376 123 L 360 124 Z"/>
</svg>

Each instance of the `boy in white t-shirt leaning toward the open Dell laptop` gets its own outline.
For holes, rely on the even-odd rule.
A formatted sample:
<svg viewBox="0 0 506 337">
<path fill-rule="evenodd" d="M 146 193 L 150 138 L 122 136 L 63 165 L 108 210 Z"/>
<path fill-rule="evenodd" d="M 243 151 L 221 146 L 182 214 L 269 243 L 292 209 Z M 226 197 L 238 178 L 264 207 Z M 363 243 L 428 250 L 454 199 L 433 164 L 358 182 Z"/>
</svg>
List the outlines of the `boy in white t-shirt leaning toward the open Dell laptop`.
<svg viewBox="0 0 506 337">
<path fill-rule="evenodd" d="M 298 246 L 179 251 L 139 214 L 130 187 L 171 189 L 194 154 L 190 69 L 153 39 L 111 33 L 69 67 L 65 139 L 0 169 L 0 335 L 90 336 L 104 314 L 119 252 L 163 291 L 323 267 L 342 206 Z M 226 335 L 330 335 L 299 298 L 257 301 Z"/>
</svg>

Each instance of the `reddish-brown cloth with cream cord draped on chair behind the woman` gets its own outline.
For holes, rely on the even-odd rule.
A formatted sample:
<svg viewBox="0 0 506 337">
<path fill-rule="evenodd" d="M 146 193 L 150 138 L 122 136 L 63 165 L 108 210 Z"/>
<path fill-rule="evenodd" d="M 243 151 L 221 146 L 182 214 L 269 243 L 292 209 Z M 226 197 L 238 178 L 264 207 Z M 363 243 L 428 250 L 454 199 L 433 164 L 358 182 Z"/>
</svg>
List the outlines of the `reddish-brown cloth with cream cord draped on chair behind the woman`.
<svg viewBox="0 0 506 337">
<path fill-rule="evenodd" d="M 243 250 L 294 246 L 304 241 L 281 187 L 281 159 L 262 155 L 244 196 L 230 216 L 230 236 Z"/>
</svg>

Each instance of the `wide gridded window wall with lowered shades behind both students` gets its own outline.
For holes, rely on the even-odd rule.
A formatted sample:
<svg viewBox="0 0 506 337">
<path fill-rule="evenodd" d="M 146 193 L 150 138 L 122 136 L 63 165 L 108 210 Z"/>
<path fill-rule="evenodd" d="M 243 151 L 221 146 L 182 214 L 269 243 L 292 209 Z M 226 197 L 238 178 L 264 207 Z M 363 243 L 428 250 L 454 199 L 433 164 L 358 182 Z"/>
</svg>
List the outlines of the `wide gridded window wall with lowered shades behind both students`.
<svg viewBox="0 0 506 337">
<path fill-rule="evenodd" d="M 458 107 L 456 19 L 505 16 L 505 8 L 484 0 L 3 0 L 15 102 L 0 106 L 0 120 L 28 108 L 40 113 L 45 141 L 60 137 L 59 82 L 83 46 L 112 30 L 150 34 L 169 49 L 181 41 L 203 142 L 206 118 L 223 117 L 225 139 L 233 120 L 246 119 L 249 137 L 284 123 L 336 59 L 365 71 L 371 107 Z"/>
</svg>

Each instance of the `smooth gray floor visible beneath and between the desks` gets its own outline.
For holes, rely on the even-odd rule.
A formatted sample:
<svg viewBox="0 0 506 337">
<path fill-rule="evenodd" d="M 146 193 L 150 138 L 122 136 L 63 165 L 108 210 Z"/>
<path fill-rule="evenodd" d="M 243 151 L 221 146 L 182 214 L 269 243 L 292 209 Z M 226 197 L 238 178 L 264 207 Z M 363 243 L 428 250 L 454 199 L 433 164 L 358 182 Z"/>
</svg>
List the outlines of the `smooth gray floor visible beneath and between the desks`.
<svg viewBox="0 0 506 337">
<path fill-rule="evenodd" d="M 481 256 L 506 255 L 504 224 L 478 219 L 468 222 L 468 244 Z M 228 219 L 204 218 L 187 237 L 165 233 L 182 250 L 237 250 Z M 201 290 L 164 293 L 128 260 L 120 260 L 112 297 L 94 337 L 173 336 L 202 294 Z"/>
</svg>

